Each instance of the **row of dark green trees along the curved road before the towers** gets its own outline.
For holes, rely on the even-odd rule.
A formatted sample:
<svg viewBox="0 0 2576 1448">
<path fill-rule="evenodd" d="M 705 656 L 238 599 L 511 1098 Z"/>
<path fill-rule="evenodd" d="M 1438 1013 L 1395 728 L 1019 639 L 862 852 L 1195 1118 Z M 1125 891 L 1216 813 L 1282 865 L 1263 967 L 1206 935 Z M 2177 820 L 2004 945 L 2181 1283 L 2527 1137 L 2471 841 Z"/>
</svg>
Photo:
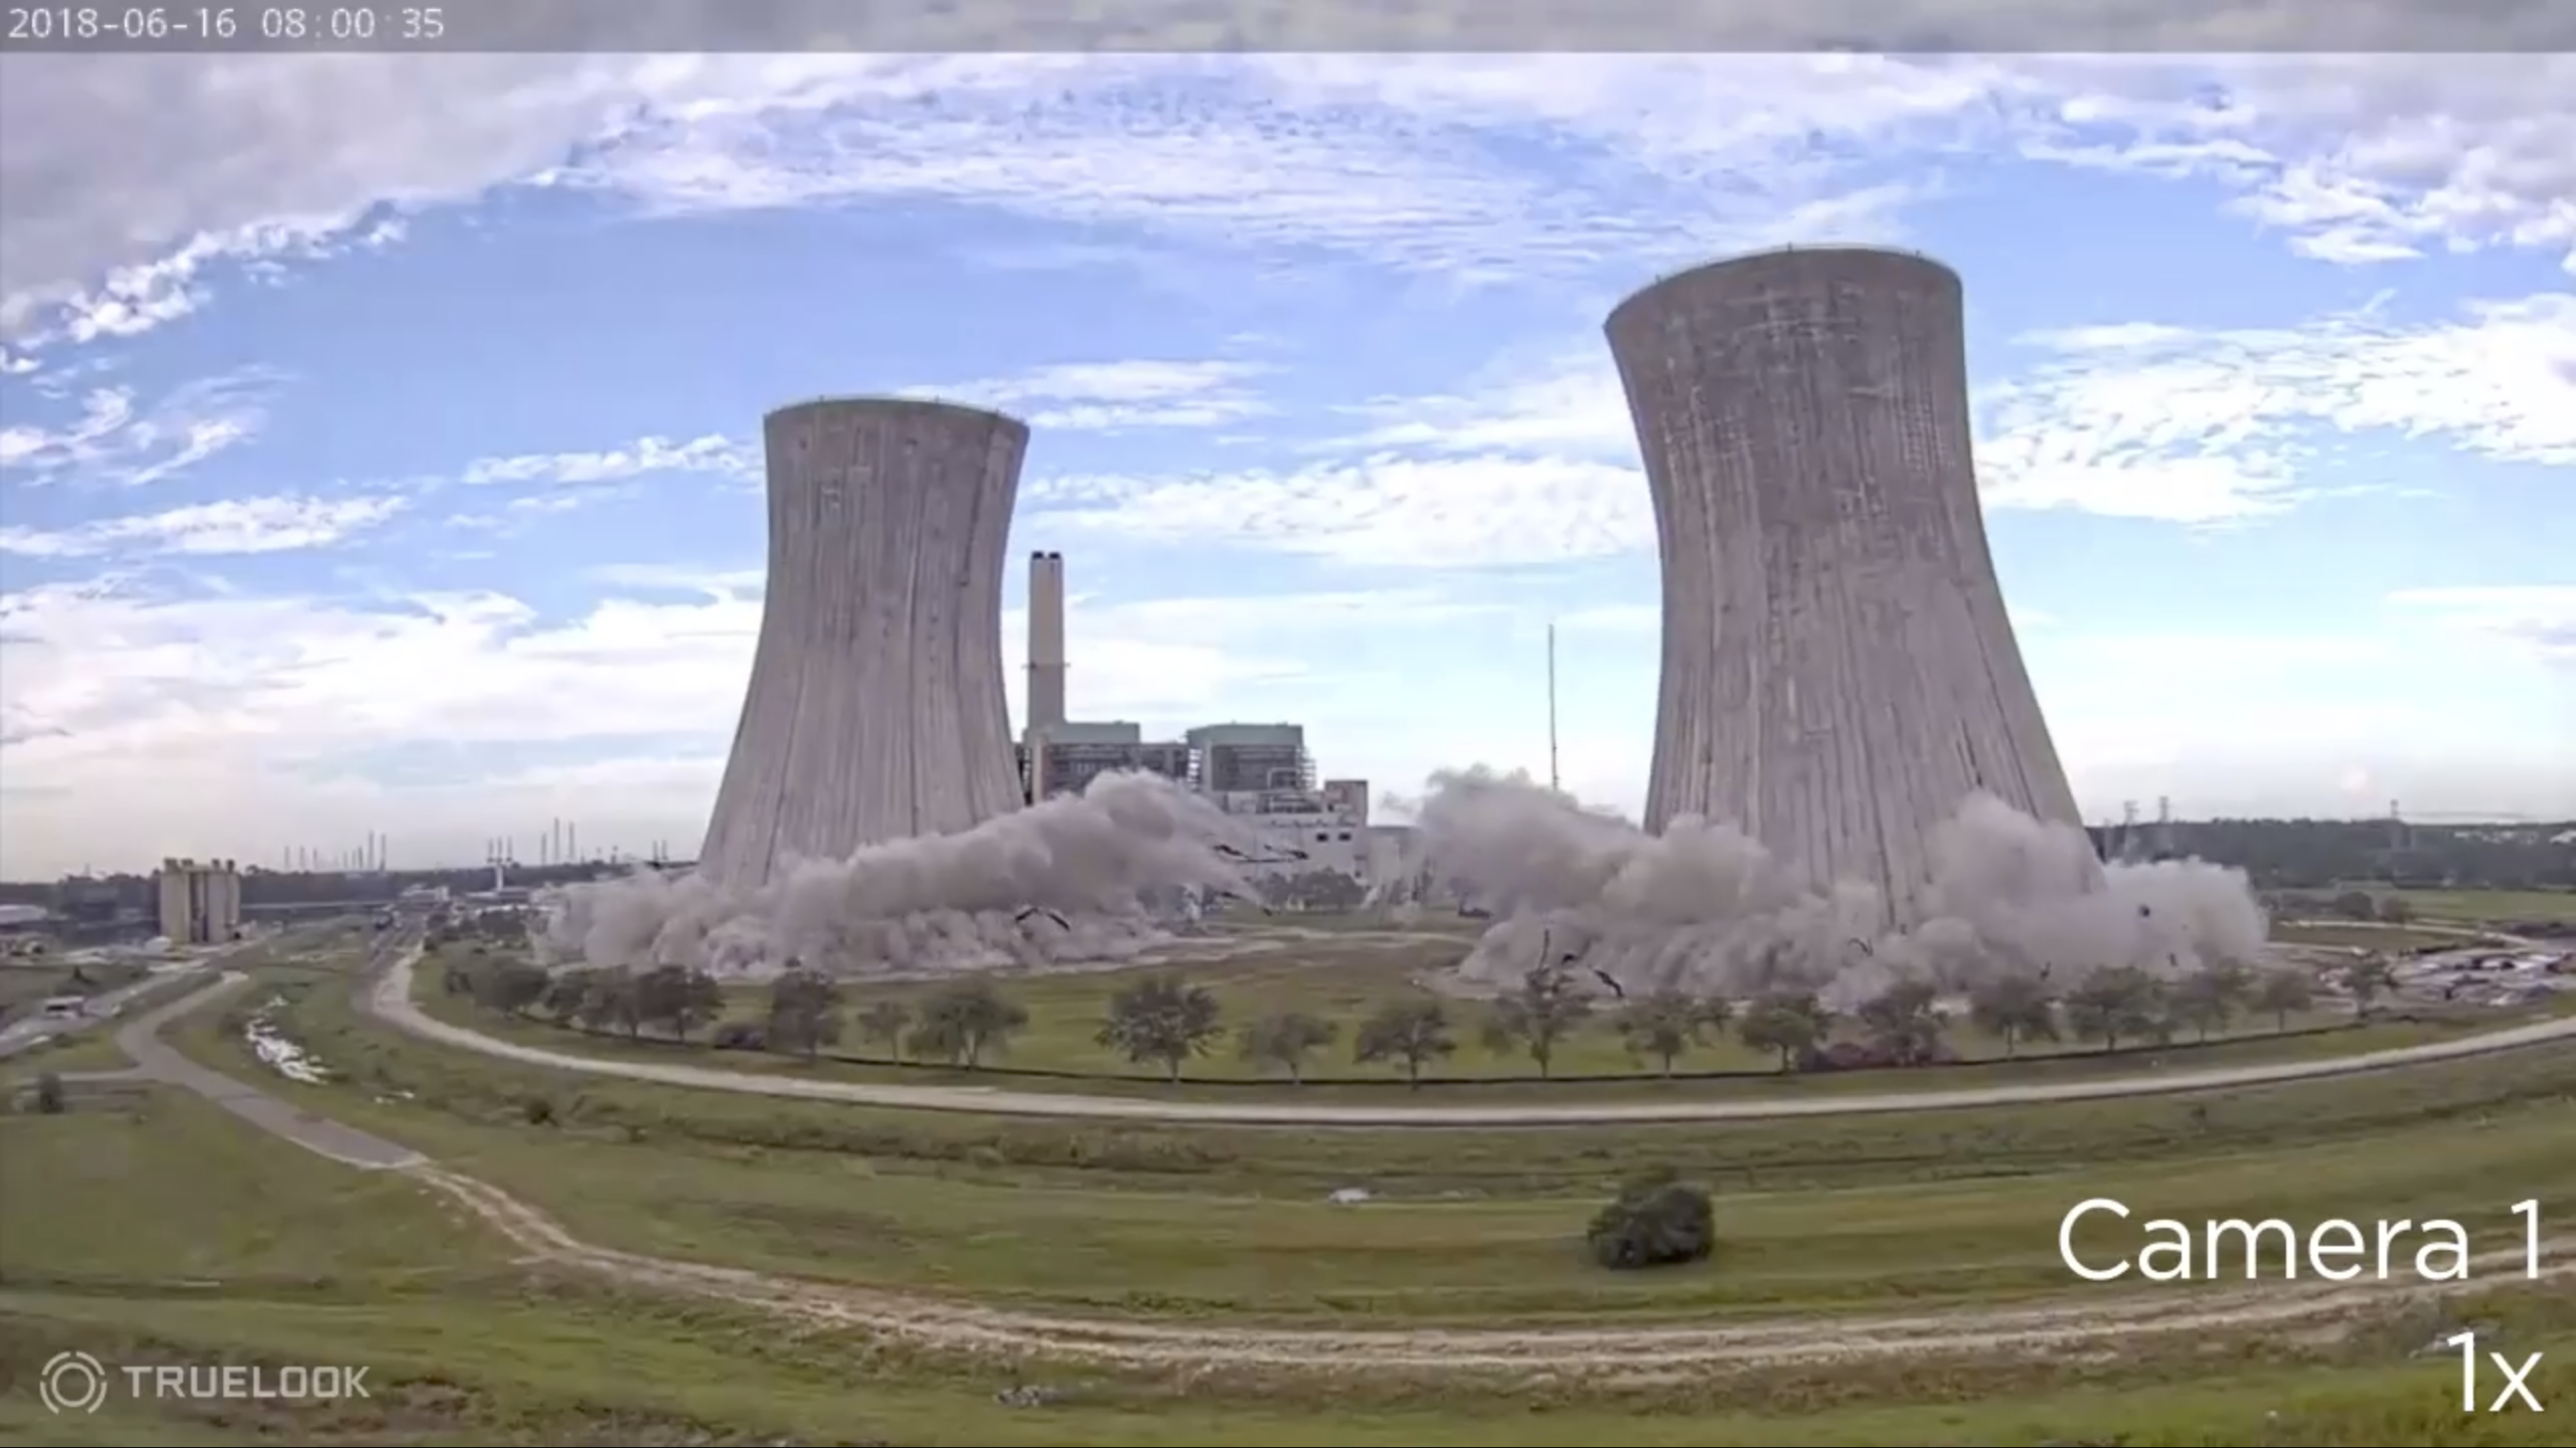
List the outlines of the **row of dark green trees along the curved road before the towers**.
<svg viewBox="0 0 2576 1448">
<path fill-rule="evenodd" d="M 2378 956 L 2344 971 L 2344 987 L 2365 1015 L 2388 982 L 2388 961 Z M 987 976 L 958 979 L 909 1002 L 850 1002 L 845 982 L 793 969 L 770 982 L 762 1015 L 750 1020 L 724 1020 L 719 982 L 683 966 L 549 974 L 492 956 L 451 964 L 446 989 L 471 995 L 489 1010 L 587 1031 L 652 1031 L 675 1041 L 708 1031 L 708 1043 L 719 1049 L 809 1059 L 858 1036 L 871 1054 L 886 1059 L 969 1072 L 1005 1054 L 1028 1028 L 1028 1010 Z M 2249 1015 L 2287 1031 L 2290 1018 L 2313 1002 L 2316 976 L 2298 969 L 2215 964 L 2169 979 L 2123 966 L 2094 971 L 2063 995 L 2050 989 L 2045 971 L 1991 976 L 1968 992 L 1965 1023 L 1999 1041 L 2009 1059 L 2038 1041 L 2087 1041 L 2105 1051 L 2208 1041 Z M 1940 1010 L 1935 987 L 1919 979 L 1896 982 L 1837 1015 L 1814 992 L 1770 992 L 1741 1005 L 1685 992 L 1602 1002 L 1577 989 L 1564 969 L 1540 969 L 1489 1002 L 1479 1038 L 1494 1054 L 1525 1056 L 1548 1077 L 1566 1041 L 1592 1031 L 1597 1020 L 1607 1023 L 1631 1059 L 1651 1062 L 1667 1077 L 1687 1054 L 1726 1033 L 1777 1059 L 1783 1072 L 1958 1059 L 1950 1049 L 1955 1020 Z M 1133 1064 L 1159 1067 L 1170 1080 L 1231 1041 L 1239 1059 L 1303 1082 L 1306 1067 L 1342 1043 L 1342 1025 L 1306 1010 L 1275 1010 L 1229 1028 L 1211 987 L 1157 974 L 1110 997 L 1095 1041 Z M 1419 1085 L 1425 1069 L 1458 1054 L 1461 1020 L 1437 997 L 1394 1000 L 1365 1015 L 1347 1043 L 1352 1064 L 1399 1069 Z"/>
</svg>

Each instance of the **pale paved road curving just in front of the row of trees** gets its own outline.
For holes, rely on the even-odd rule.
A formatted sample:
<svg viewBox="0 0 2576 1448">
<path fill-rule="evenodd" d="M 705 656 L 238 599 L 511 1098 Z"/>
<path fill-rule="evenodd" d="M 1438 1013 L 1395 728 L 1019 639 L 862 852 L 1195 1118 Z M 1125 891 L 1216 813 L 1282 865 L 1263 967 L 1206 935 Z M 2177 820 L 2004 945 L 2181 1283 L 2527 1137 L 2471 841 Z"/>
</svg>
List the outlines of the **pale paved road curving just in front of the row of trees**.
<svg viewBox="0 0 2576 1448">
<path fill-rule="evenodd" d="M 662 1062 L 621 1062 L 605 1056 L 574 1056 L 500 1041 L 482 1031 L 469 1031 L 422 1013 L 412 1002 L 412 964 L 417 956 L 394 958 L 371 989 L 358 997 L 361 1010 L 440 1046 L 459 1046 L 551 1067 L 559 1072 L 587 1072 L 598 1077 L 626 1077 L 701 1090 L 732 1090 L 744 1095 L 793 1095 L 806 1100 L 840 1100 L 850 1105 L 891 1105 L 904 1110 L 969 1110 L 984 1116 L 1072 1116 L 1090 1121 L 1172 1121 L 1221 1126 L 1605 1126 L 1646 1121 L 1783 1121 L 1806 1116 L 1886 1116 L 1901 1110 L 1950 1110 L 1960 1105 L 2032 1105 L 2058 1100 L 2105 1100 L 2128 1095 L 2172 1095 L 2184 1090 L 2251 1087 L 2272 1082 L 2349 1077 L 2416 1067 L 2427 1062 L 2458 1062 L 2537 1046 L 2545 1041 L 2576 1041 L 2576 1018 L 2517 1025 L 2512 1031 L 2483 1031 L 2429 1046 L 2403 1046 L 2360 1056 L 2326 1056 L 2316 1062 L 2275 1062 L 2262 1067 L 2221 1067 L 2200 1072 L 2154 1072 L 2133 1077 L 2099 1077 L 2087 1082 L 2040 1082 L 1973 1090 L 1922 1090 L 1922 1092 L 1834 1092 L 1816 1098 L 1770 1100 L 1602 1100 L 1558 1105 L 1350 1105 L 1350 1103 L 1257 1103 L 1257 1100 L 1162 1100 L 1121 1095 L 1033 1092 L 1005 1087 L 933 1087 L 891 1082 L 806 1080 L 726 1072 L 714 1067 L 683 1067 Z"/>
</svg>

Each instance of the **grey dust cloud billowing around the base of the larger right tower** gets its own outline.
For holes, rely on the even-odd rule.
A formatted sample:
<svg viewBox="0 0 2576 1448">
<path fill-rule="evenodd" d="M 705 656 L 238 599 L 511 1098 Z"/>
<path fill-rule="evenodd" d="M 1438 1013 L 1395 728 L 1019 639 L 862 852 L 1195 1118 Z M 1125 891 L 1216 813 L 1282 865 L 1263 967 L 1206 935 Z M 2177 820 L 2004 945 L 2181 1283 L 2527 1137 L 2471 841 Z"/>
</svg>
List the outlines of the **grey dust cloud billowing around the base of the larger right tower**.
<svg viewBox="0 0 2576 1448">
<path fill-rule="evenodd" d="M 1875 889 L 1816 886 L 1734 824 L 1682 817 L 1646 835 L 1525 776 L 1435 776 L 1417 824 L 1409 879 L 1497 917 L 1458 966 L 1468 987 L 1558 966 L 1625 992 L 1816 989 L 1839 1007 L 1899 976 L 1963 989 L 2007 969 L 2058 984 L 2105 966 L 2179 974 L 2251 961 L 2264 940 L 2241 871 L 2102 866 L 2081 830 L 1991 796 L 1935 832 L 1904 930 Z M 1381 881 L 1381 899 L 1401 889 Z"/>
</svg>

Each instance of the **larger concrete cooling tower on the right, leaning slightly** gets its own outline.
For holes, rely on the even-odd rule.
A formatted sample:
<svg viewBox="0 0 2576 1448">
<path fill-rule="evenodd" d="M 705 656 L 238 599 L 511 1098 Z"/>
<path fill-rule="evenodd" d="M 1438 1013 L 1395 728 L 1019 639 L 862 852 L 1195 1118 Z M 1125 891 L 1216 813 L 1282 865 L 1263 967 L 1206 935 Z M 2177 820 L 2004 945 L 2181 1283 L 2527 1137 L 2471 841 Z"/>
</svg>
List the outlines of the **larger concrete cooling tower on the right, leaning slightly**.
<svg viewBox="0 0 2576 1448">
<path fill-rule="evenodd" d="M 1607 332 L 1664 562 L 1646 830 L 1734 819 L 1901 925 L 1973 791 L 2081 824 L 1986 551 L 1958 273 L 1765 252 Z"/>
</svg>

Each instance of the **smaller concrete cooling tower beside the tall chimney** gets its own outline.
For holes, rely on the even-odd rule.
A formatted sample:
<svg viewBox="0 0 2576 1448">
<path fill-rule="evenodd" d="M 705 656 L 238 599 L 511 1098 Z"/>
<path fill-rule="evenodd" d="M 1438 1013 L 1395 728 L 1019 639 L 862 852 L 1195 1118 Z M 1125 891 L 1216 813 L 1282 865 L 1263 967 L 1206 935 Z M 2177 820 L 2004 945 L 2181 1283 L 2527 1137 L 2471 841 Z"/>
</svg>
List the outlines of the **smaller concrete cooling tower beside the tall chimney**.
<svg viewBox="0 0 2576 1448">
<path fill-rule="evenodd" d="M 762 423 L 770 577 L 698 871 L 945 835 L 1015 809 L 1002 559 L 1028 425 L 829 399 Z"/>
</svg>

